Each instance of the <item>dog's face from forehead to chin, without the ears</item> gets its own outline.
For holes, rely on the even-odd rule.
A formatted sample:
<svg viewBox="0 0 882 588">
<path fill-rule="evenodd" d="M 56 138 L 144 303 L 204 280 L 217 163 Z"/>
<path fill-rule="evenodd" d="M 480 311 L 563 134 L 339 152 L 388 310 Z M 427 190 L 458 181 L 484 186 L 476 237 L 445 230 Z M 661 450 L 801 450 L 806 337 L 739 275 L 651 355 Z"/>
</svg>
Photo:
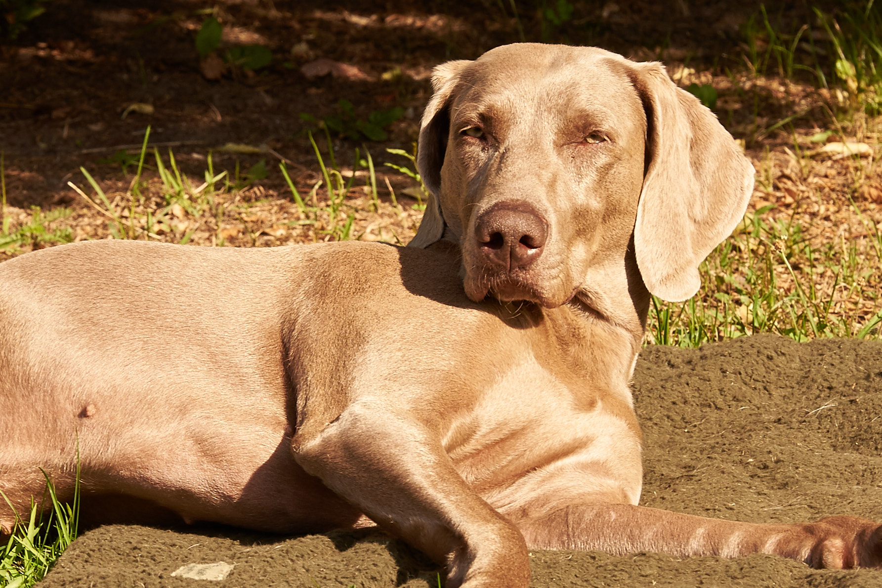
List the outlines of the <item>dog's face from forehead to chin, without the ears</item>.
<svg viewBox="0 0 882 588">
<path fill-rule="evenodd" d="M 624 71 L 587 76 L 577 56 L 560 57 L 531 53 L 512 68 L 497 52 L 460 74 L 439 200 L 472 300 L 556 307 L 593 264 L 624 264 L 643 183 L 643 107 Z"/>
</svg>

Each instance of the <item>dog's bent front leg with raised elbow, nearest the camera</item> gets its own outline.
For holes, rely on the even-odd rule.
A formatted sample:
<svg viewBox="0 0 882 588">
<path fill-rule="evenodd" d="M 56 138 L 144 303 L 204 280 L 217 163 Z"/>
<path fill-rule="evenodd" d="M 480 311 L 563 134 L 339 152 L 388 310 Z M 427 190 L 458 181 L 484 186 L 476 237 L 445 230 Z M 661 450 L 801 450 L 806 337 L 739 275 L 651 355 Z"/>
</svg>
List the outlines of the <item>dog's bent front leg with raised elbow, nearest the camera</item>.
<svg viewBox="0 0 882 588">
<path fill-rule="evenodd" d="M 317 434 L 298 432 L 292 447 L 303 469 L 445 564 L 447 588 L 526 588 L 523 536 L 468 488 L 422 423 L 358 402 Z"/>
</svg>

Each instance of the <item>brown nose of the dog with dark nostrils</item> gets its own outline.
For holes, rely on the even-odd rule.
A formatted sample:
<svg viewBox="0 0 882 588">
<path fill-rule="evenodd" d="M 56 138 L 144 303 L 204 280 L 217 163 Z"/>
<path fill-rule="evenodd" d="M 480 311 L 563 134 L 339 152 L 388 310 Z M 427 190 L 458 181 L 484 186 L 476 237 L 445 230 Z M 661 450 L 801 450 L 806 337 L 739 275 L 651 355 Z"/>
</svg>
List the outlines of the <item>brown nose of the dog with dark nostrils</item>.
<svg viewBox="0 0 882 588">
<path fill-rule="evenodd" d="M 497 269 L 525 268 L 542 255 L 548 222 L 533 205 L 519 200 L 498 202 L 475 223 L 478 249 Z"/>
</svg>

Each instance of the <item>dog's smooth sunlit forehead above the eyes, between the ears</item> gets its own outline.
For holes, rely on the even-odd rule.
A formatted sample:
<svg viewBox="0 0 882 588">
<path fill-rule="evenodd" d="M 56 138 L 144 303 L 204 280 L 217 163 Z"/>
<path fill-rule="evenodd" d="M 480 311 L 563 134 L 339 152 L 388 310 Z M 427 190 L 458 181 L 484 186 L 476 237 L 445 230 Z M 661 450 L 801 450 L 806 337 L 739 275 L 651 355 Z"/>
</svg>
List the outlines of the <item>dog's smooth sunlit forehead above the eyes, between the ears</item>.
<svg viewBox="0 0 882 588">
<path fill-rule="evenodd" d="M 452 122 L 483 116 L 512 125 L 535 117 L 564 123 L 588 116 L 598 124 L 631 126 L 644 113 L 630 68 L 622 57 L 598 48 L 495 48 L 461 72 Z"/>
</svg>

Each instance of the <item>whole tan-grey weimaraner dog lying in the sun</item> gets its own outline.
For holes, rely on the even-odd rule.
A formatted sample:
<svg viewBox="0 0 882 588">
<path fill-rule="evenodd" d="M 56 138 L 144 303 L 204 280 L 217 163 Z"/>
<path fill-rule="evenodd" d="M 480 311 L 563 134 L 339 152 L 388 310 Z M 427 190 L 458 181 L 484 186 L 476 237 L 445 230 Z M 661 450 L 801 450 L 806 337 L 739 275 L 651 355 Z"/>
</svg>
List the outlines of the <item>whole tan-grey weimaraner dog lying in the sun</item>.
<svg viewBox="0 0 882 588">
<path fill-rule="evenodd" d="M 659 63 L 519 44 L 437 67 L 411 247 L 83 242 L 0 265 L 4 532 L 40 468 L 83 516 L 273 532 L 376 523 L 447 586 L 527 549 L 878 567 L 878 524 L 638 506 L 629 379 L 753 169 Z"/>
</svg>

